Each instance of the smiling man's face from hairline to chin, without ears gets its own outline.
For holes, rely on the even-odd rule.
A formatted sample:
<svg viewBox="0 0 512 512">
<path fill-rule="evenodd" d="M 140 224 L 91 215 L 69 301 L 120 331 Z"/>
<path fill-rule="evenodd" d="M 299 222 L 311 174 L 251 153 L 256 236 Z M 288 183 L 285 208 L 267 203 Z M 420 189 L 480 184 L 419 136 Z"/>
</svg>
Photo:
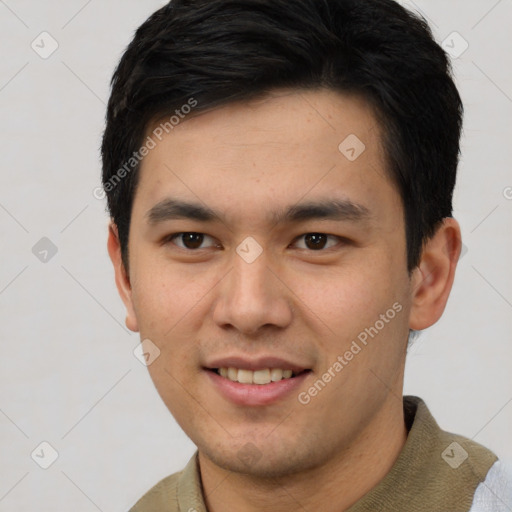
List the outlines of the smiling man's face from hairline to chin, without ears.
<svg viewBox="0 0 512 512">
<path fill-rule="evenodd" d="M 325 464 L 402 407 L 411 282 L 380 140 L 362 100 L 285 91 L 185 119 L 142 164 L 128 324 L 161 351 L 156 388 L 221 467 Z M 233 383 L 219 367 L 298 375 Z"/>
</svg>

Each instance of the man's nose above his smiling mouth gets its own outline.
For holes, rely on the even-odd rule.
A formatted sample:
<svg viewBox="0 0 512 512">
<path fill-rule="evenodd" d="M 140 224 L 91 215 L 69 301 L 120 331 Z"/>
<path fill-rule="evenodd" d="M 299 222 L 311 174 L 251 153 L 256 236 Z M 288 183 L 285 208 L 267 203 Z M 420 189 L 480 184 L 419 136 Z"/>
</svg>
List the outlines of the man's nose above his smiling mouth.
<svg viewBox="0 0 512 512">
<path fill-rule="evenodd" d="M 292 321 L 292 295 L 268 266 L 264 252 L 252 263 L 235 254 L 233 269 L 220 283 L 213 319 L 246 335 L 263 327 L 285 328 Z"/>
</svg>

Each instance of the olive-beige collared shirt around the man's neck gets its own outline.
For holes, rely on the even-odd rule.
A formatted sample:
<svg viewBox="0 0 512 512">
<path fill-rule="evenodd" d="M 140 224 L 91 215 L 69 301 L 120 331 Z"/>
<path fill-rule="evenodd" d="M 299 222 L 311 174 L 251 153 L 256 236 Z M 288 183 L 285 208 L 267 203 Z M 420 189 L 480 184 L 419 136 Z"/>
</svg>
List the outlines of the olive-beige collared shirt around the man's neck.
<svg viewBox="0 0 512 512">
<path fill-rule="evenodd" d="M 404 397 L 404 412 L 409 433 L 398 459 L 384 479 L 346 512 L 468 512 L 496 455 L 441 430 L 418 397 Z M 130 512 L 208 512 L 197 452 L 183 471 L 161 480 Z"/>
</svg>

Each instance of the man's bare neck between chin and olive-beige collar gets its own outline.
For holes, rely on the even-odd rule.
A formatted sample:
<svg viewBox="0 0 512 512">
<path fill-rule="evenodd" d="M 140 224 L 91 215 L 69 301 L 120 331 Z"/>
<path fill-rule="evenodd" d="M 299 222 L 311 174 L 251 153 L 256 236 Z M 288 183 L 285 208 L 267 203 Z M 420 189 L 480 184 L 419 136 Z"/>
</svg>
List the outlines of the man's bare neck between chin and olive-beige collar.
<svg viewBox="0 0 512 512">
<path fill-rule="evenodd" d="M 199 451 L 203 494 L 209 512 L 340 512 L 373 489 L 391 470 L 407 439 L 402 401 L 388 402 L 342 453 L 319 467 L 279 479 L 260 479 L 215 465 Z"/>
</svg>

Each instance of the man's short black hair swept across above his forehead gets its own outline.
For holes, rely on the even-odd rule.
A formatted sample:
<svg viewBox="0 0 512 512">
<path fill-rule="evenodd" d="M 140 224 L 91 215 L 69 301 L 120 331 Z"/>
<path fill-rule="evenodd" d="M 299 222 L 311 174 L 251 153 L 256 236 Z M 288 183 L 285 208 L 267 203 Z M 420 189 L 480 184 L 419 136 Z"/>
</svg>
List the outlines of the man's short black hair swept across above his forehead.
<svg viewBox="0 0 512 512">
<path fill-rule="evenodd" d="M 103 187 L 127 270 L 137 151 L 151 123 L 191 98 L 198 113 L 280 88 L 356 93 L 373 108 L 409 272 L 418 265 L 452 215 L 463 116 L 427 22 L 393 0 L 173 0 L 140 26 L 112 78 Z"/>
</svg>

